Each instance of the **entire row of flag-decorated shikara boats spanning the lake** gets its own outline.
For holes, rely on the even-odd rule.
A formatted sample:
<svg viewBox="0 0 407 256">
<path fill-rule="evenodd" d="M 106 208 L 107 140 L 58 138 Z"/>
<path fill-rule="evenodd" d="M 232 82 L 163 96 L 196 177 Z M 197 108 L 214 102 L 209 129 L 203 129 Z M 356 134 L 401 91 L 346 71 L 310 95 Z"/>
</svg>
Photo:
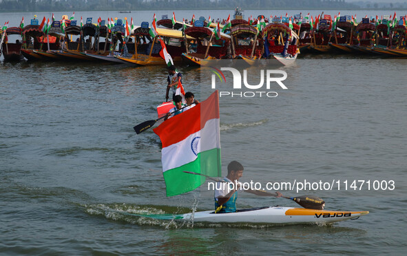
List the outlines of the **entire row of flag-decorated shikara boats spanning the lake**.
<svg viewBox="0 0 407 256">
<path fill-rule="evenodd" d="M 391 28 L 387 24 L 390 21 L 386 19 L 378 24 L 364 18 L 356 24 L 348 16 L 333 20 L 331 16 L 324 15 L 313 25 L 298 15 L 292 21 L 291 18 L 263 19 L 262 16 L 247 21 L 240 15 L 228 19 L 225 24 L 205 19 L 194 23 L 161 19 L 156 22 L 156 36 L 152 37 L 147 22 L 127 34 L 120 20 L 109 26 L 92 22 L 79 26 L 74 22 L 71 25 L 71 21 L 65 19 L 63 22 L 54 21 L 46 33 L 34 24 L 0 31 L 0 38 L 5 38 L 1 53 L 6 61 L 26 58 L 28 61 L 80 60 L 141 66 L 167 65 L 160 56 L 162 46 L 158 39 L 162 39 L 174 64 L 188 65 L 209 65 L 212 60 L 228 58 L 242 59 L 249 65 L 259 59 L 272 58 L 286 65 L 295 61 L 300 52 L 407 56 L 405 19 L 400 19 Z M 66 24 L 65 29 L 61 28 L 62 23 Z M 226 30 L 216 33 L 224 26 Z M 21 38 L 14 43 L 8 40 L 12 34 Z"/>
</svg>

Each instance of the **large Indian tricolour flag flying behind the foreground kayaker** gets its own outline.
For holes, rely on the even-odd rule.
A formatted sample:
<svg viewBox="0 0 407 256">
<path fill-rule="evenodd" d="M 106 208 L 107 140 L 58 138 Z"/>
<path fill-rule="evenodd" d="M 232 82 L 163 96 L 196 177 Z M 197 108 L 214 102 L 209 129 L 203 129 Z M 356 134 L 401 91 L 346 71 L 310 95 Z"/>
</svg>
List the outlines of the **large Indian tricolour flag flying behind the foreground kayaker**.
<svg viewBox="0 0 407 256">
<path fill-rule="evenodd" d="M 154 129 L 163 143 L 163 175 L 167 196 L 192 191 L 205 177 L 218 177 L 220 169 L 219 96 L 214 92 L 195 107 L 182 112 Z"/>
</svg>

